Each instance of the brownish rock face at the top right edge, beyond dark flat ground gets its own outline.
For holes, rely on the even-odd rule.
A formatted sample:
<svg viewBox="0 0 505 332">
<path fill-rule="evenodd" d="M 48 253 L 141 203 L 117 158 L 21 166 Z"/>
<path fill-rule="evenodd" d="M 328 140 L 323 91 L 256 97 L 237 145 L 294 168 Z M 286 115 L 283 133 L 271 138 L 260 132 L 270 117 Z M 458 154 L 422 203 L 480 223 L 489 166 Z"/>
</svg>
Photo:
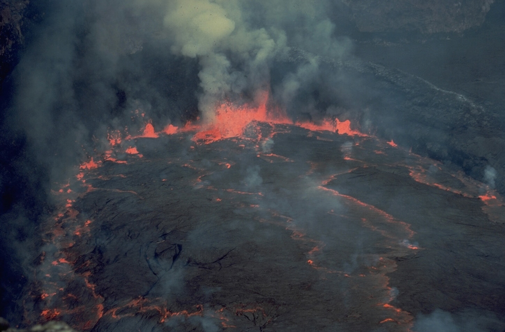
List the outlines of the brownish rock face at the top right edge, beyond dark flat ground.
<svg viewBox="0 0 505 332">
<path fill-rule="evenodd" d="M 343 0 L 362 32 L 461 32 L 479 26 L 494 0 Z"/>
</svg>

